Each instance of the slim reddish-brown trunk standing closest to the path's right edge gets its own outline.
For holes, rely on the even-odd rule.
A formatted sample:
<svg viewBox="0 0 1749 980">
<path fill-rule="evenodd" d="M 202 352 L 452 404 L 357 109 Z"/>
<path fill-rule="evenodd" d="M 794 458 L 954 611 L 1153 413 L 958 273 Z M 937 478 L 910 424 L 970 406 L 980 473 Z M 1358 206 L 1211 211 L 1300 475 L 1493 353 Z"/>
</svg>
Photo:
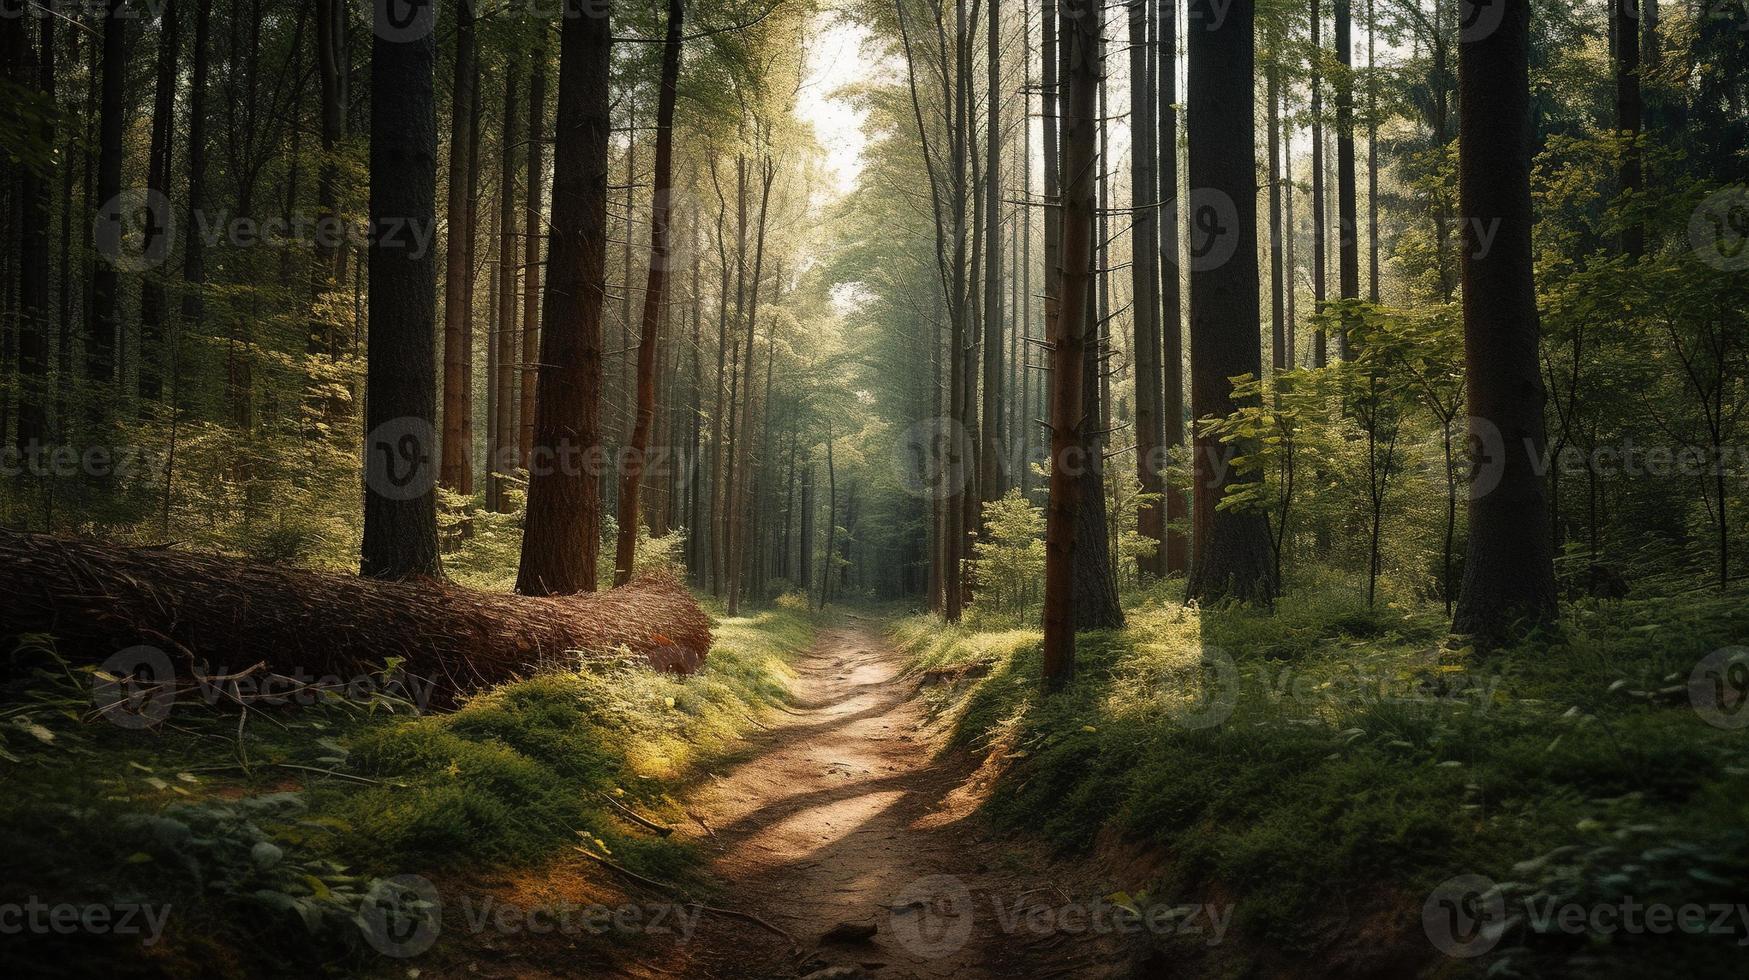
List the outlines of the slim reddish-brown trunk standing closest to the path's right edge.
<svg viewBox="0 0 1749 980">
<path fill-rule="evenodd" d="M 1062 0 L 1062 46 L 1065 72 L 1063 102 L 1063 187 L 1062 273 L 1056 303 L 1056 332 L 1051 336 L 1051 495 L 1044 528 L 1044 682 L 1062 690 L 1076 672 L 1076 550 L 1083 528 L 1081 499 L 1086 483 L 1079 474 L 1088 430 L 1097 422 L 1086 413 L 1086 334 L 1093 296 L 1095 224 L 1095 103 L 1098 98 L 1098 0 Z M 1104 534 L 1104 528 L 1100 528 Z"/>
</svg>

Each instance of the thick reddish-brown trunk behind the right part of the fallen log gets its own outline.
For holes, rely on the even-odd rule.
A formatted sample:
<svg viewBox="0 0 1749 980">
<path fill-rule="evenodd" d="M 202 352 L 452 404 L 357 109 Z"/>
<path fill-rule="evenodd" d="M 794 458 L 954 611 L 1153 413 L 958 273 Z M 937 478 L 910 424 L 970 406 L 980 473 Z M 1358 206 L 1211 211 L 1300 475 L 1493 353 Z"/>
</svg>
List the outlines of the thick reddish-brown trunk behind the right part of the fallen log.
<svg viewBox="0 0 1749 980">
<path fill-rule="evenodd" d="M 516 590 L 523 595 L 595 592 L 600 550 L 602 301 L 607 292 L 609 18 L 567 4 L 560 33 L 553 229 L 535 467 Z"/>
</svg>

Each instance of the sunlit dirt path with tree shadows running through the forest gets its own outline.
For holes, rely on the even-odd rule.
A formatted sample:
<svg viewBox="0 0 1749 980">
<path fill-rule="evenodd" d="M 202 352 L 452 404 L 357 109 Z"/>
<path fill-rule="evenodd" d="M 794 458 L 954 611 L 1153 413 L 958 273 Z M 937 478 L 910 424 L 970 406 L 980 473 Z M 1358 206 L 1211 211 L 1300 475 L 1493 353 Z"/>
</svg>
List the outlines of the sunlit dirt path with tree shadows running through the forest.
<svg viewBox="0 0 1749 980">
<path fill-rule="evenodd" d="M 1028 849 L 972 819 L 988 775 L 969 752 L 936 752 L 916 681 L 876 625 L 848 614 L 798 663 L 796 707 L 752 738 L 745 761 L 687 802 L 714 836 L 719 908 L 691 942 L 633 976 L 712 980 L 1097 975 L 1086 945 L 1034 934 L 1000 908 L 1062 894 Z M 1058 875 L 1060 880 L 1060 875 Z M 822 942 L 841 922 L 862 942 Z M 1079 954 L 1079 956 L 1070 956 Z"/>
</svg>

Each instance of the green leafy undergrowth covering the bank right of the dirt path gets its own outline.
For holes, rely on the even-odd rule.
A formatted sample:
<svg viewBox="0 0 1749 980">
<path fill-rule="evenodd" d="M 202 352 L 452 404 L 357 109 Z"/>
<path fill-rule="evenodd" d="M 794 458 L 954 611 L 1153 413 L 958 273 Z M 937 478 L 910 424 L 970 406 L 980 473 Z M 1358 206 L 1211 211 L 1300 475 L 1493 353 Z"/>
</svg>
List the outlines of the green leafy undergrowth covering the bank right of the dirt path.
<svg viewBox="0 0 1749 980">
<path fill-rule="evenodd" d="M 1436 970 L 1740 962 L 1749 915 L 1733 934 L 1569 934 L 1520 912 L 1740 901 L 1749 752 L 1744 732 L 1697 714 L 1688 681 L 1749 639 L 1744 595 L 1585 602 L 1558 639 L 1488 658 L 1450 640 L 1438 607 L 1361 595 L 1315 583 L 1270 614 L 1156 592 L 1128 628 L 1079 637 L 1076 681 L 1053 698 L 1037 630 L 915 616 L 894 632 L 951 738 L 1000 756 L 986 805 L 1000 828 L 1065 854 L 1107 830 L 1153 845 L 1161 887 L 1237 901 L 1247 956 L 1382 929 Z M 1424 901 L 1455 875 L 1497 882 L 1509 914 L 1476 961 L 1424 934 Z"/>
</svg>

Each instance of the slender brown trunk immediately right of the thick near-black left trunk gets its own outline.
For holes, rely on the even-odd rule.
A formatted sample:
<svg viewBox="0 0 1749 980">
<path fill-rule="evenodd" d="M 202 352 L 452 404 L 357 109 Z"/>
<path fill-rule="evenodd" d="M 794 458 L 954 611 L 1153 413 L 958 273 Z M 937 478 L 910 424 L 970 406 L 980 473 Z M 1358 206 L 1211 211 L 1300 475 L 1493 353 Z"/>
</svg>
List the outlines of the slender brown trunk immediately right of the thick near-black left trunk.
<svg viewBox="0 0 1749 980">
<path fill-rule="evenodd" d="M 469 280 L 472 201 L 469 200 L 469 121 L 474 114 L 474 5 L 455 5 L 455 88 L 449 114 L 449 222 L 442 304 L 442 485 L 455 494 L 474 492 L 474 446 L 469 439 L 474 392 L 469 383 L 474 345 L 469 343 Z"/>
</svg>

